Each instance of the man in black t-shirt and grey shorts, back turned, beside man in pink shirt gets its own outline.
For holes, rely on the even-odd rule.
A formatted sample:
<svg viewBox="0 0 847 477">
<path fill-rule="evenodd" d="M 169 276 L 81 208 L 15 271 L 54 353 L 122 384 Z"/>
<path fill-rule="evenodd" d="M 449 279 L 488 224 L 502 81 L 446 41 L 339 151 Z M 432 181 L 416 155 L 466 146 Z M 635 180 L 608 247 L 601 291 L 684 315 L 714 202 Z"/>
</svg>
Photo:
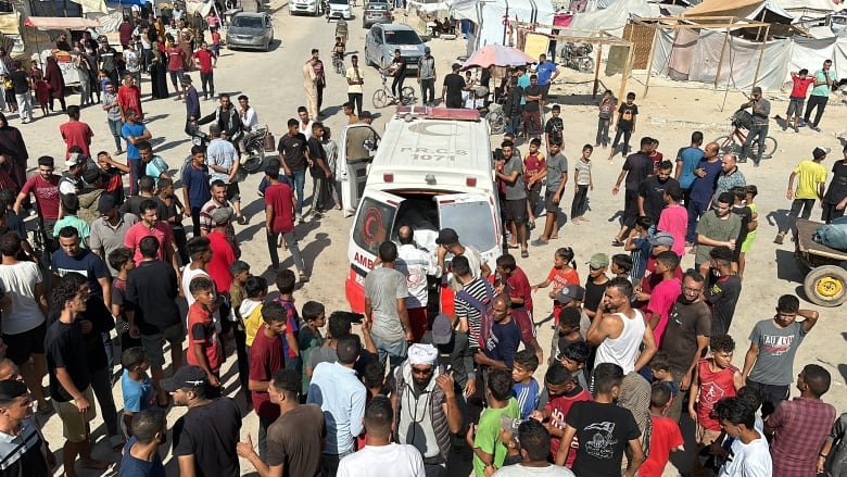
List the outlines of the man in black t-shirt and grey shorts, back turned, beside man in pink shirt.
<svg viewBox="0 0 847 477">
<path fill-rule="evenodd" d="M 141 338 L 141 346 L 150 356 L 153 386 L 159 391 L 159 404 L 167 405 L 167 393 L 160 386 L 165 364 L 162 341 L 170 343 L 170 361 L 176 372 L 182 365 L 185 329 L 176 300 L 179 280 L 170 264 L 157 260 L 159 240 L 144 237 L 139 242 L 141 262 L 126 281 L 125 306 L 129 335 Z"/>
</svg>

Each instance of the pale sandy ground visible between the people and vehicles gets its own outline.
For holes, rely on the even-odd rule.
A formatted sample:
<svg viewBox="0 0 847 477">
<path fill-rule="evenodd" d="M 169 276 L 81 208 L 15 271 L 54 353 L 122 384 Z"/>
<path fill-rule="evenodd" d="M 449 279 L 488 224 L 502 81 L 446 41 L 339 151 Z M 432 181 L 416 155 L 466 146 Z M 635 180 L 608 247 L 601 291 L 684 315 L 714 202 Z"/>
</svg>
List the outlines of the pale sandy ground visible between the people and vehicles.
<svg viewBox="0 0 847 477">
<path fill-rule="evenodd" d="M 270 125 L 276 137 L 285 131 L 285 123 L 289 117 L 295 116 L 299 105 L 305 103 L 299 67 L 308 58 L 309 49 L 321 48 L 326 64 L 331 65 L 329 51 L 332 46 L 333 26 L 329 26 L 323 18 L 291 17 L 288 14 L 288 5 L 280 1 L 270 4 L 277 41 L 271 52 L 232 52 L 224 50 L 218 62 L 215 80 L 218 92 L 249 95 L 251 104 L 257 110 L 262 123 Z M 350 41 L 347 52 L 364 52 L 364 29 L 361 28 L 361 7 L 355 8 L 356 20 L 350 22 Z M 281 39 L 281 45 L 280 40 Z M 439 79 L 448 70 L 448 65 L 462 54 L 465 49 L 464 41 L 432 40 L 433 55 L 438 61 Z M 814 68 L 817 65 L 807 65 Z M 642 72 L 643 73 L 643 72 Z M 199 85 L 199 75 L 192 73 Z M 573 70 L 562 70 L 559 85 L 553 88 L 555 97 L 551 102 L 562 104 L 562 117 L 566 124 L 565 153 L 571 159 L 572 164 L 579 158 L 579 151 L 583 143 L 594 142 L 596 113 L 591 98 L 591 79 Z M 617 91 L 620 77 L 602 78 L 605 87 Z M 370 103 L 370 95 L 378 86 L 378 76 L 372 68 L 366 70 L 365 109 L 374 111 Z M 673 158 L 680 147 L 687 146 L 693 130 L 703 130 L 707 140 L 724 135 L 729 131 L 729 121 L 737 104 L 744 101 L 739 92 L 712 90 L 700 88 L 701 85 L 685 85 L 663 79 L 653 79 L 649 96 L 642 98 L 644 75 L 630 79 L 629 90 L 639 96 L 636 103 L 640 105 L 641 115 L 633 143 L 637 143 L 641 136 L 649 135 L 661 141 L 659 148 L 666 156 Z M 328 74 L 329 86 L 326 90 L 324 111 L 329 117 L 326 124 L 336 131 L 339 137 L 340 127 L 346 121 L 340 112 L 340 104 L 346 101 L 345 84 L 341 77 L 333 73 Z M 414 79 L 408 79 L 407 85 L 414 85 Z M 696 86 L 696 87 L 693 87 Z M 150 86 L 147 79 L 142 85 L 142 91 L 147 96 Z M 439 87 L 440 93 L 440 87 Z M 775 91 L 767 93 L 772 100 L 772 115 L 783 113 L 787 105 L 786 95 Z M 69 99 L 68 103 L 78 103 L 78 97 Z M 202 102 L 202 111 L 208 113 L 215 103 Z M 185 109 L 182 103 L 173 100 L 159 100 L 146 102 L 144 110 L 151 120 L 149 128 L 153 134 L 155 152 L 161 154 L 176 170 L 185 160 L 190 149 L 188 138 L 182 134 Z M 375 111 L 376 112 L 376 111 Z M 388 110 L 384 110 L 376 123 L 382 127 L 387 121 Z M 783 113 L 784 114 L 784 113 Z M 11 123 L 21 128 L 27 142 L 29 154 L 34 158 L 30 166 L 35 165 L 35 158 L 49 154 L 60 158 L 64 145 L 58 131 L 58 126 L 65 121 L 65 116 L 53 114 L 47 118 L 38 120 L 28 125 L 21 125 L 15 115 L 10 117 Z M 772 243 L 778 230 L 776 223 L 781 222 L 786 213 L 789 202 L 785 199 L 787 176 L 792 167 L 801 160 L 811 156 L 811 150 L 816 146 L 833 149 L 831 156 L 824 162 L 827 168 L 832 161 L 840 156 L 842 145 L 839 137 L 844 136 L 843 125 L 847 120 L 847 110 L 837 106 L 831 101 L 826 110 L 821 127 L 823 133 L 814 133 L 810 129 L 801 129 L 799 134 L 793 131 L 782 133 L 779 127 L 771 126 L 771 135 L 779 142 L 779 151 L 773 159 L 764 161 L 759 168 L 753 168 L 751 164 L 742 165 L 748 184 L 759 186 L 760 194 L 757 198 L 759 206 L 759 234 L 753 251 L 748 255 L 748 271 L 744 281 L 742 299 L 738 302 L 731 334 L 737 342 L 734 363 L 743 365 L 744 353 L 747 349 L 747 336 L 755 322 L 768 318 L 773 310 L 779 296 L 783 293 L 800 293 L 801 275 L 797 271 L 792 256 L 793 244 L 786 240 L 784 246 Z M 114 145 L 105 123 L 105 114 L 99 108 L 88 108 L 83 112 L 83 121 L 89 123 L 96 133 L 92 150 L 105 149 L 112 151 Z M 501 138 L 492 138 L 492 145 L 500 142 Z M 526 146 L 523 146 L 526 149 Z M 569 246 L 577 252 L 578 271 L 584 281 L 587 266 L 584 265 L 589 258 L 596 252 L 608 254 L 620 252 L 610 246 L 612 236 L 618 230 L 616 214 L 622 210 L 622 196 L 612 197 L 610 191 L 614 181 L 620 172 L 622 160 L 616 158 L 614 162 L 606 160 L 607 150 L 598 149 L 595 152 L 594 185 L 591 192 L 591 212 L 587 214 L 590 222 L 572 225 L 565 221 L 559 231 L 559 239 L 554 246 L 546 248 L 531 248 L 531 256 L 519 260 L 519 265 L 524 268 L 532 283 L 542 280 L 553 263 L 553 252 L 557 246 Z M 121 158 L 124 159 L 123 156 Z M 58 161 L 61 163 L 61 161 Z M 253 266 L 254 274 L 264 273 L 267 278 L 273 277 L 266 272 L 269 263 L 263 228 L 263 204 L 255 193 L 261 174 L 248 178 L 241 190 L 244 198 L 244 213 L 250 218 L 245 226 L 237 226 L 238 238 L 243 250 L 243 260 Z M 571 183 L 572 184 L 572 183 Z M 307 191 L 311 187 L 307 186 Z M 565 210 L 569 210 L 573 188 L 569 184 L 566 198 L 562 200 Z M 817 215 L 817 212 L 816 212 Z M 816 217 L 813 217 L 816 218 Z M 819 218 L 819 217 L 818 217 Z M 539 228 L 533 234 L 535 238 L 540 233 L 543 221 L 539 222 Z M 307 300 L 323 302 L 328 311 L 346 309 L 344 299 L 343 280 L 347 276 L 349 264 L 346 249 L 349 240 L 351 218 L 343 218 L 340 213 L 332 212 L 319 222 L 308 222 L 298 226 L 298 235 L 301 239 L 301 248 L 304 252 L 307 268 L 312 274 L 312 281 L 295 293 L 296 300 L 303 303 Z M 283 266 L 292 266 L 286 252 Z M 686 255 L 683 266 L 693 266 L 693 255 Z M 274 292 L 271 288 L 271 292 Z M 808 303 L 805 303 L 808 305 Z M 536 297 L 536 316 L 546 316 L 552 310 L 552 303 L 544 297 Z M 814 306 L 810 306 L 814 307 Z M 844 314 L 842 309 L 822 309 L 820 322 L 817 328 L 800 347 L 795 362 L 795 372 L 808 363 L 818 363 L 826 367 L 833 375 L 832 390 L 825 396 L 825 401 L 836 405 L 840 411 L 847 409 L 847 391 L 845 390 L 845 376 L 847 364 L 843 357 L 838 357 L 844 349 L 844 326 L 838 325 L 838 317 Z M 548 343 L 551 329 L 543 326 L 539 330 L 539 341 Z M 548 351 L 545 350 L 545 357 Z M 843 354 L 842 354 L 843 356 Z M 229 366 L 235 363 L 231 357 L 225 368 L 225 381 L 227 390 L 233 394 L 238 388 L 235 369 Z M 544 367 L 536 378 L 543 379 Z M 114 388 L 115 401 L 121 409 L 123 402 L 121 388 Z M 241 398 L 237 398 L 240 404 Z M 168 423 L 173 423 L 182 415 L 185 409 L 172 409 L 168 413 Z M 250 432 L 256 441 L 257 419 L 254 414 L 244 415 L 242 436 Z M 52 448 L 59 449 L 62 443 L 61 423 L 55 415 L 51 415 L 45 424 L 45 434 L 52 443 Z M 111 452 L 108 444 L 102 442 L 104 427 L 100 417 L 93 422 L 92 435 L 98 443 L 94 447 L 96 459 L 117 462 L 119 455 Z M 169 449 L 162 449 L 162 455 L 168 463 L 168 475 L 177 475 L 176 462 L 170 460 Z M 61 453 L 58 454 L 61 461 Z M 685 460 L 683 460 L 684 462 Z M 242 461 L 242 472 L 252 470 L 246 461 Z M 684 465 L 684 464 L 683 464 Z M 456 470 L 452 475 L 463 475 Z M 94 472 L 81 472 L 83 476 L 100 475 Z M 466 474 L 464 474 L 466 475 Z M 675 475 L 672 466 L 668 466 L 666 475 Z"/>
</svg>

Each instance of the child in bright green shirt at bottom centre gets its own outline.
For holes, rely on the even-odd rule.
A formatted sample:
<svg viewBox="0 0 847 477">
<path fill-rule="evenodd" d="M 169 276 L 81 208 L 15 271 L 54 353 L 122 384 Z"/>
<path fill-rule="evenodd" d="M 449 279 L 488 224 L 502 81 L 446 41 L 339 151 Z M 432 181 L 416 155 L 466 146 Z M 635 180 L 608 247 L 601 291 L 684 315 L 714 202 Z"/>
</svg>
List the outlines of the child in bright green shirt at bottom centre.
<svg viewBox="0 0 847 477">
<path fill-rule="evenodd" d="M 473 472 L 483 477 L 485 470 L 494 470 L 506 459 L 506 445 L 500 440 L 501 416 L 518 418 L 520 407 L 511 397 L 511 376 L 505 369 L 494 369 L 489 374 L 485 396 L 489 407 L 482 411 L 479 425 L 471 424 L 467 442 L 473 450 Z"/>
</svg>

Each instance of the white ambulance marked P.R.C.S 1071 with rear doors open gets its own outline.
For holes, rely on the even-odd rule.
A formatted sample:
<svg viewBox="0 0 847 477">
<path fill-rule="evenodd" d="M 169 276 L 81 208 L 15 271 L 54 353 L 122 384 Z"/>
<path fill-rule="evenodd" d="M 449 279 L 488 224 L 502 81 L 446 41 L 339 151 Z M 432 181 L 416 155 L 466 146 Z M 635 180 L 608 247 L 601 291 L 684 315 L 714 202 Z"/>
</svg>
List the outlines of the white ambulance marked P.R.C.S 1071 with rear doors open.
<svg viewBox="0 0 847 477">
<path fill-rule="evenodd" d="M 347 180 L 342 202 L 355 208 L 344 284 L 353 311 L 365 310 L 365 276 L 380 243 L 396 240 L 404 225 L 433 255 L 438 231 L 453 228 L 463 244 L 476 247 L 494 267 L 503 230 L 489 136 L 477 111 L 441 108 L 397 108 L 381 138 L 364 123 L 343 130 L 338 160 L 346 162 Z M 441 296 L 445 313 L 452 312 L 452 297 Z"/>
</svg>

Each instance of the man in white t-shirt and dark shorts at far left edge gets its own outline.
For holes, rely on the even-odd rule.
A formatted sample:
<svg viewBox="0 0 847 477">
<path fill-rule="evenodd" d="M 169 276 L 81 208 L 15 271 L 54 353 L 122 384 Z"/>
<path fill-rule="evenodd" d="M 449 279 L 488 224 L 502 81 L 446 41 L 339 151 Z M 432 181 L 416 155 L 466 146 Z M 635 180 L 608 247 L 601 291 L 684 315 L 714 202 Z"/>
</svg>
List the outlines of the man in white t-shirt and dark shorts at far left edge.
<svg viewBox="0 0 847 477">
<path fill-rule="evenodd" d="M 3 306 L 3 342 L 8 347 L 5 357 L 21 369 L 26 386 L 33 390 L 38 409 L 47 409 L 45 393 L 41 390 L 41 377 L 45 375 L 45 311 L 47 298 L 41 278 L 41 269 L 34 262 L 21 262 L 21 236 L 16 231 L 7 231 L 0 236 L 0 283 L 11 300 Z M 29 362 L 29 357 L 33 362 Z"/>
</svg>

